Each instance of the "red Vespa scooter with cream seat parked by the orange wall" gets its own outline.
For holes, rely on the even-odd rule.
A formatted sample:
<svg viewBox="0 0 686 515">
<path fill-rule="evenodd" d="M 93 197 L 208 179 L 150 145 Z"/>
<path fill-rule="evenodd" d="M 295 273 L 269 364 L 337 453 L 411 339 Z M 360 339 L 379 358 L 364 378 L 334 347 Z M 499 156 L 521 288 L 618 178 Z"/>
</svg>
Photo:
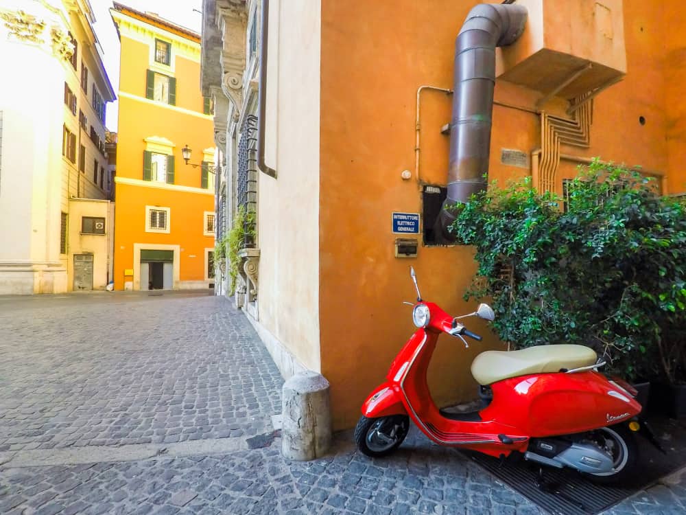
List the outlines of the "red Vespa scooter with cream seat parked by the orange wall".
<svg viewBox="0 0 686 515">
<path fill-rule="evenodd" d="M 417 291 L 412 319 L 418 330 L 405 344 L 386 376 L 362 406 L 355 442 L 362 453 L 381 457 L 396 450 L 410 419 L 440 445 L 477 450 L 495 457 L 524 458 L 556 468 L 571 467 L 600 483 L 632 475 L 637 444 L 632 432 L 641 405 L 636 390 L 598 373 L 595 352 L 582 345 L 541 345 L 512 352 L 486 351 L 471 365 L 475 380 L 490 387 L 493 400 L 474 413 L 448 413 L 436 407 L 427 369 L 438 336 L 480 341 L 458 321 L 476 316 L 493 321 L 487 304 L 453 318 L 421 299 Z"/>
</svg>

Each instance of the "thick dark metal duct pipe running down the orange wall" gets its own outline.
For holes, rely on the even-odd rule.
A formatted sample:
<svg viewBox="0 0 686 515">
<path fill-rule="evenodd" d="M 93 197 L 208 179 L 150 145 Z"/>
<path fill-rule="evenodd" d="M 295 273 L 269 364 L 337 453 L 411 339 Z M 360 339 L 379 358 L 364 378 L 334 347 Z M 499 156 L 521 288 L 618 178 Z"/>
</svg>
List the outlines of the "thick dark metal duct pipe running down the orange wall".
<svg viewBox="0 0 686 515">
<path fill-rule="evenodd" d="M 454 242 L 449 208 L 486 190 L 495 87 L 495 47 L 521 35 L 527 10 L 517 4 L 481 3 L 466 17 L 455 43 L 453 115 L 450 124 L 448 193 L 436 220 L 440 243 Z"/>
</svg>

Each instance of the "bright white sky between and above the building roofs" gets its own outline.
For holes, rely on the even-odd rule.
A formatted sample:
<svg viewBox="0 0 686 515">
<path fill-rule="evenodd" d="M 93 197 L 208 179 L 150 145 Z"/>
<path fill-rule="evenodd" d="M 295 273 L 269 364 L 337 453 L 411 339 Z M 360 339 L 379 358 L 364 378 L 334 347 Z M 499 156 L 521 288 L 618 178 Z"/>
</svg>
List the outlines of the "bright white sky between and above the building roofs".
<svg viewBox="0 0 686 515">
<path fill-rule="evenodd" d="M 119 91 L 119 38 L 110 16 L 112 0 L 90 0 L 95 14 L 95 34 L 104 52 L 105 69 L 115 93 Z M 119 0 L 119 3 L 141 12 L 154 12 L 161 18 L 187 27 L 200 34 L 202 0 Z M 195 9 L 195 10 L 194 10 Z M 117 130 L 117 102 L 107 106 L 106 126 Z"/>
</svg>

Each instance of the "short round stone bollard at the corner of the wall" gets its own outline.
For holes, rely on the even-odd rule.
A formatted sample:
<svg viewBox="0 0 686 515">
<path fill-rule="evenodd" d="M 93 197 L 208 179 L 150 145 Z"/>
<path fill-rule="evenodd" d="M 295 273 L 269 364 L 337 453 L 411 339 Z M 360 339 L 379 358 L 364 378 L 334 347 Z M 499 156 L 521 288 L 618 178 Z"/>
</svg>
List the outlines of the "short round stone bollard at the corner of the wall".
<svg viewBox="0 0 686 515">
<path fill-rule="evenodd" d="M 307 370 L 283 384 L 281 454 L 286 459 L 318 458 L 331 446 L 329 381 Z"/>
</svg>

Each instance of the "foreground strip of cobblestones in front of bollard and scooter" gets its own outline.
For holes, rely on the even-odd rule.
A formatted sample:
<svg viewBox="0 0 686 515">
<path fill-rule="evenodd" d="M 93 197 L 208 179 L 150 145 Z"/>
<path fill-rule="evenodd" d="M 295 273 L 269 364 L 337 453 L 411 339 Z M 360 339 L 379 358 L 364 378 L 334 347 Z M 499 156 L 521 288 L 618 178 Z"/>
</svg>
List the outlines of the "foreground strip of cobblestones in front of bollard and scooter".
<svg viewBox="0 0 686 515">
<path fill-rule="evenodd" d="M 454 450 L 411 438 L 388 459 L 338 435 L 331 455 L 286 462 L 279 439 L 228 455 L 6 470 L 0 512 L 37 514 L 541 513 Z"/>
</svg>

